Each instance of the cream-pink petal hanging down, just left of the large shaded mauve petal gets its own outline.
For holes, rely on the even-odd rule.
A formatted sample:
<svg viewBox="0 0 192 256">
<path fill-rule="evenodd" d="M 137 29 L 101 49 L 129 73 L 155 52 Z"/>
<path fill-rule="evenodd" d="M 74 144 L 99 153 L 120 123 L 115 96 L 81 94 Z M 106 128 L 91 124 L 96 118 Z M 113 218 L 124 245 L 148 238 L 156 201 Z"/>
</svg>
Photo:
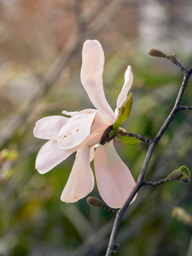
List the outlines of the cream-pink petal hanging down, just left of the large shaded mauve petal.
<svg viewBox="0 0 192 256">
<path fill-rule="evenodd" d="M 89 146 L 78 151 L 67 184 L 61 195 L 63 202 L 72 203 L 84 198 L 94 187 L 94 175 L 89 163 Z"/>
</svg>

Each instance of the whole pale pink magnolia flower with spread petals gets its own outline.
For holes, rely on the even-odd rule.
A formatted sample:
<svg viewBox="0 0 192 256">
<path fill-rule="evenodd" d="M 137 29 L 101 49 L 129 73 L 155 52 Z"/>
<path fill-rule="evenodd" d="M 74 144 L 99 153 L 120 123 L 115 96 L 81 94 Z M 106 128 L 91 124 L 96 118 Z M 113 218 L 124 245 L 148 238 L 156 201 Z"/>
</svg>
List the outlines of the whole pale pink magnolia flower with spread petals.
<svg viewBox="0 0 192 256">
<path fill-rule="evenodd" d="M 81 83 L 96 109 L 67 112 L 71 116 L 45 117 L 37 121 L 34 135 L 47 141 L 36 159 L 39 173 L 47 173 L 54 166 L 77 151 L 76 159 L 61 200 L 76 202 L 94 188 L 94 174 L 90 162 L 94 159 L 95 176 L 100 196 L 109 207 L 120 208 L 129 197 L 135 181 L 129 168 L 116 153 L 113 141 L 98 145 L 103 132 L 114 124 L 118 110 L 127 98 L 133 75 L 131 67 L 125 71 L 125 83 L 117 99 L 115 112 L 103 91 L 104 53 L 97 40 L 83 45 Z"/>
</svg>

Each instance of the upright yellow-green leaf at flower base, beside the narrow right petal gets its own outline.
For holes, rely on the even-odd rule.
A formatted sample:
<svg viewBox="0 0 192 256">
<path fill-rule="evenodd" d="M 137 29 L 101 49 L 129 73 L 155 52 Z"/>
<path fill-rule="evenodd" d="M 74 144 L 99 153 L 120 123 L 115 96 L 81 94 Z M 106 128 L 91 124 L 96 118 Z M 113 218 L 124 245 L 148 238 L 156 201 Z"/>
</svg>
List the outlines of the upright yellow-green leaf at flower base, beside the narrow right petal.
<svg viewBox="0 0 192 256">
<path fill-rule="evenodd" d="M 119 126 L 129 117 L 132 107 L 132 93 L 130 92 L 127 99 L 123 102 L 121 108 L 119 109 L 117 118 L 114 122 L 113 128 L 115 132 L 118 132 Z"/>
</svg>

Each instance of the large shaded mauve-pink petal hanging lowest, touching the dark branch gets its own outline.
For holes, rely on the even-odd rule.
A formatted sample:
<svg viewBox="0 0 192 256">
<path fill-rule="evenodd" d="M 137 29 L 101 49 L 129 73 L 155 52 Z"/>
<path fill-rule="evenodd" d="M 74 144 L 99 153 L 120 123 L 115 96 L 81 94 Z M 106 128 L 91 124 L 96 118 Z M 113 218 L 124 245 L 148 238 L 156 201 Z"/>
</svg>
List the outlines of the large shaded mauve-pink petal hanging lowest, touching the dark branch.
<svg viewBox="0 0 192 256">
<path fill-rule="evenodd" d="M 112 141 L 96 148 L 94 165 L 100 196 L 109 207 L 122 207 L 135 181 L 129 168 L 116 153 Z"/>
</svg>

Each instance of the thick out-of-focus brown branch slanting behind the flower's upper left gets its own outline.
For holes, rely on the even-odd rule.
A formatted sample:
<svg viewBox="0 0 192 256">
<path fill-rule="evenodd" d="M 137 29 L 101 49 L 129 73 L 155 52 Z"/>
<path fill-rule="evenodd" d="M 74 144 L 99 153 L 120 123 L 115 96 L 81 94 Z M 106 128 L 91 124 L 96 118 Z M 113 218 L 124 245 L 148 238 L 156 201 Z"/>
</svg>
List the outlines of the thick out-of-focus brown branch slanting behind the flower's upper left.
<svg viewBox="0 0 192 256">
<path fill-rule="evenodd" d="M 116 3 L 116 5 L 114 5 L 114 2 Z M 92 27 L 88 26 L 89 23 L 98 16 L 101 9 L 103 9 L 104 6 L 106 6 L 107 4 L 109 4 L 109 6 L 107 6 L 107 10 L 111 8 L 111 5 L 113 6 L 113 15 L 115 15 L 115 13 L 119 11 L 119 8 L 116 8 L 118 5 L 117 3 L 118 1 L 116 0 L 98 1 L 92 4 L 89 7 L 88 11 L 86 11 L 86 13 L 82 13 L 79 15 L 78 20 L 80 23 L 84 24 L 84 31 L 78 31 L 78 33 L 68 41 L 68 43 L 60 51 L 53 64 L 49 67 L 49 69 L 42 78 L 36 76 L 36 79 L 39 83 L 38 91 L 34 92 L 34 94 L 31 95 L 27 103 L 25 103 L 25 105 L 23 105 L 20 110 L 18 110 L 18 112 L 12 114 L 2 122 L 2 124 L 0 125 L 0 148 L 2 148 L 11 140 L 19 126 L 24 123 L 26 119 L 28 119 L 36 104 L 40 101 L 40 99 L 42 99 L 42 97 L 45 96 L 49 88 L 51 88 L 53 83 L 60 76 L 60 73 L 65 68 L 68 61 L 77 52 L 78 47 L 79 45 L 81 45 L 82 40 L 84 40 L 85 35 L 90 34 L 90 32 L 92 31 Z M 108 18 L 110 19 L 112 17 L 113 16 L 109 16 Z M 100 29 L 100 26 L 104 26 L 107 22 L 109 22 L 109 20 L 97 20 L 94 23 L 95 31 L 98 31 Z M 97 25 L 98 23 L 100 25 Z"/>
</svg>

